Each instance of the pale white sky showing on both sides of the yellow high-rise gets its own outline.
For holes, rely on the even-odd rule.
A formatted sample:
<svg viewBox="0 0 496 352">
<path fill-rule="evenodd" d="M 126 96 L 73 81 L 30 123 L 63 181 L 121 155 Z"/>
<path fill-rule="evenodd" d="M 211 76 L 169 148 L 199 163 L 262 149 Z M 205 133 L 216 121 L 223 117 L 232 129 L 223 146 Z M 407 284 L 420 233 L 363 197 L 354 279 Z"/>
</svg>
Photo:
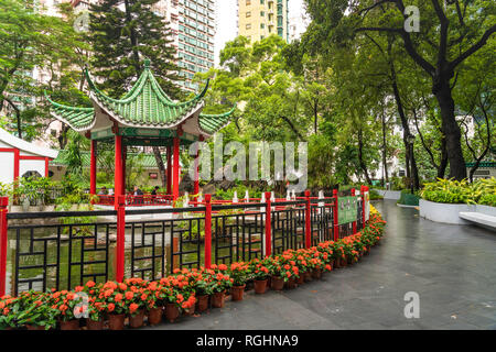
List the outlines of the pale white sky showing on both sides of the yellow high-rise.
<svg viewBox="0 0 496 352">
<path fill-rule="evenodd" d="M 215 64 L 218 65 L 218 54 L 224 45 L 236 37 L 238 28 L 238 0 L 217 0 L 217 33 L 215 35 Z M 303 11 L 303 0 L 289 1 L 290 18 L 300 15 Z"/>
</svg>

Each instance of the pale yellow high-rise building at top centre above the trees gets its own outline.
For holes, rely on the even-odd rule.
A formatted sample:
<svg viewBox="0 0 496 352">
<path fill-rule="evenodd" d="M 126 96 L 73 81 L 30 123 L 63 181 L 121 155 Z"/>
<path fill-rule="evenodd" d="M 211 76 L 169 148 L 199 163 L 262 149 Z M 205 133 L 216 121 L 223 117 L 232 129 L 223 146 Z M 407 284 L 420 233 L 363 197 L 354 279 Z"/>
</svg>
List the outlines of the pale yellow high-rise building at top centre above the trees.
<svg viewBox="0 0 496 352">
<path fill-rule="evenodd" d="M 251 43 L 271 34 L 289 41 L 289 0 L 238 0 L 238 34 Z"/>
</svg>

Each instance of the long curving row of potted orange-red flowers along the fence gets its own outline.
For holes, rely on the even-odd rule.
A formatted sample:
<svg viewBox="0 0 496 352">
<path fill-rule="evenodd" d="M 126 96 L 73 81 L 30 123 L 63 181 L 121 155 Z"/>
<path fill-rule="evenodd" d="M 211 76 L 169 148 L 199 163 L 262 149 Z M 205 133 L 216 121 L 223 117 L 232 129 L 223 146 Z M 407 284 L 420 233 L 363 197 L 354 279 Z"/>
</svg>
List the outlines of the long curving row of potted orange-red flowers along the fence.
<svg viewBox="0 0 496 352">
<path fill-rule="evenodd" d="M 237 262 L 229 266 L 175 270 L 160 280 L 128 278 L 123 283 L 88 282 L 74 290 L 25 292 L 18 297 L 0 298 L 0 329 L 101 330 L 105 321 L 111 330 L 139 328 L 148 316 L 149 324 L 165 317 L 173 322 L 181 315 L 193 315 L 224 307 L 225 297 L 242 300 L 247 286 L 256 294 L 270 287 L 281 290 L 322 277 L 334 267 L 352 265 L 368 254 L 382 235 L 385 221 L 371 215 L 367 226 L 338 241 L 321 242 L 310 249 L 288 250 L 280 255 Z"/>
</svg>

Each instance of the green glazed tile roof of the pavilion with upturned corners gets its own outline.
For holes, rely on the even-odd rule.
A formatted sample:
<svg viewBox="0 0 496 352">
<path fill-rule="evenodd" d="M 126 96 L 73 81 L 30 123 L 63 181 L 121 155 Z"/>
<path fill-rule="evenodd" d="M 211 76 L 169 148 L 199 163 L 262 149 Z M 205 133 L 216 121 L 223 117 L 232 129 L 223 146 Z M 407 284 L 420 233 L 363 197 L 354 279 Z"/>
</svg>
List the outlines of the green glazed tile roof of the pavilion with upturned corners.
<svg viewBox="0 0 496 352">
<path fill-rule="evenodd" d="M 203 109 L 203 98 L 208 89 L 207 81 L 202 92 L 193 99 L 174 102 L 160 87 L 150 70 L 149 61 L 144 62 L 143 73 L 121 99 L 110 98 L 99 90 L 87 69 L 85 69 L 85 75 L 94 102 L 121 124 L 128 127 L 174 128 Z M 56 103 L 50 100 L 47 96 L 46 99 L 52 103 L 52 114 L 74 130 L 78 132 L 87 131 L 95 124 L 94 108 L 74 108 Z M 200 130 L 206 134 L 214 134 L 229 122 L 229 116 L 233 111 L 234 109 L 222 114 L 200 114 Z"/>
</svg>

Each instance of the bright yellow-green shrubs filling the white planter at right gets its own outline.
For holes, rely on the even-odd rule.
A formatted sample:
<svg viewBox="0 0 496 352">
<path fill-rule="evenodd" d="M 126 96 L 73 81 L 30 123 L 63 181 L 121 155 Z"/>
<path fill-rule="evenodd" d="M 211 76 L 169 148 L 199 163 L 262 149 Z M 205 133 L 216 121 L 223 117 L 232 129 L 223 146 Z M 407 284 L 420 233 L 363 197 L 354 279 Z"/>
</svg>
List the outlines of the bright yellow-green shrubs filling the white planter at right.
<svg viewBox="0 0 496 352">
<path fill-rule="evenodd" d="M 484 204 L 495 206 L 496 178 L 478 179 L 470 184 L 466 179 L 439 179 L 424 185 L 420 196 L 430 201 L 445 204 Z"/>
</svg>

